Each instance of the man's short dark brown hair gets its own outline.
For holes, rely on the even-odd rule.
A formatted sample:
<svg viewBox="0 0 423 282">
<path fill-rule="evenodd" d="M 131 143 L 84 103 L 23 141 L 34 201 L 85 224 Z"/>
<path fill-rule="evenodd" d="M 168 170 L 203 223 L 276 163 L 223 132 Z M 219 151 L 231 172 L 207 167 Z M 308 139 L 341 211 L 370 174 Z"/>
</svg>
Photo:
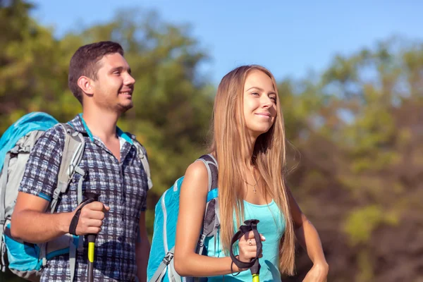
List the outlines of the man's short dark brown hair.
<svg viewBox="0 0 423 282">
<path fill-rule="evenodd" d="M 111 41 L 102 41 L 87 44 L 79 47 L 73 54 L 71 63 L 69 63 L 68 87 L 73 95 L 82 104 L 82 90 L 78 86 L 78 79 L 86 76 L 93 80 L 97 79 L 99 66 L 97 64 L 103 56 L 107 54 L 118 53 L 123 56 L 121 44 Z"/>
</svg>

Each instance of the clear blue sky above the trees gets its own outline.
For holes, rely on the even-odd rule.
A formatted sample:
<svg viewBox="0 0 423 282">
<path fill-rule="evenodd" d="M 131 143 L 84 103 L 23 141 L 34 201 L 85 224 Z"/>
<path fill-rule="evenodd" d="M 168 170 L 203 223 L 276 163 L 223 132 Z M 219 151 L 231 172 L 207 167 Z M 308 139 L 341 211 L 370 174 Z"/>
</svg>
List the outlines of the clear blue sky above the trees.
<svg viewBox="0 0 423 282">
<path fill-rule="evenodd" d="M 258 63 L 281 78 L 324 70 L 334 54 L 353 54 L 400 35 L 423 40 L 423 1 L 33 1 L 39 23 L 56 37 L 111 20 L 121 8 L 155 9 L 162 20 L 190 23 L 211 60 L 212 82 L 236 66 Z M 130 62 L 129 62 L 130 63 Z"/>
</svg>

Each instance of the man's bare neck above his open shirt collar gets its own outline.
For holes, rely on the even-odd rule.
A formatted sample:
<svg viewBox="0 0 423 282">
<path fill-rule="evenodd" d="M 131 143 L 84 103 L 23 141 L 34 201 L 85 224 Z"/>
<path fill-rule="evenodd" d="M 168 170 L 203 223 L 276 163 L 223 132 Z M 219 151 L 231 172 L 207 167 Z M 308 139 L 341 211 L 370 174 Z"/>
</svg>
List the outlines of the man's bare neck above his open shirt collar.
<svg viewBox="0 0 423 282">
<path fill-rule="evenodd" d="M 84 118 L 92 135 L 99 137 L 104 143 L 108 143 L 116 138 L 118 114 L 99 109 L 83 109 L 82 118 Z"/>
</svg>

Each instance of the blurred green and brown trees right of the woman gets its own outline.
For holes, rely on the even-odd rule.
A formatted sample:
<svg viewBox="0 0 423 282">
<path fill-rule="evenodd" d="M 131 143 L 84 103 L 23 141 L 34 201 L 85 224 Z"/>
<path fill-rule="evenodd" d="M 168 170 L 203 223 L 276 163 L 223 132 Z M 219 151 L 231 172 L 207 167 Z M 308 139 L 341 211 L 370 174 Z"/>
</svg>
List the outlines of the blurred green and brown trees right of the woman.
<svg viewBox="0 0 423 282">
<path fill-rule="evenodd" d="M 330 281 L 422 277 L 422 243 L 412 235 L 422 232 L 414 216 L 423 193 L 422 56 L 423 44 L 400 38 L 335 56 L 309 95 L 317 106 L 297 116 L 302 161 L 290 181 L 321 231 Z M 292 88 L 305 101 L 304 83 Z M 310 266 L 304 255 L 300 277 Z"/>
</svg>

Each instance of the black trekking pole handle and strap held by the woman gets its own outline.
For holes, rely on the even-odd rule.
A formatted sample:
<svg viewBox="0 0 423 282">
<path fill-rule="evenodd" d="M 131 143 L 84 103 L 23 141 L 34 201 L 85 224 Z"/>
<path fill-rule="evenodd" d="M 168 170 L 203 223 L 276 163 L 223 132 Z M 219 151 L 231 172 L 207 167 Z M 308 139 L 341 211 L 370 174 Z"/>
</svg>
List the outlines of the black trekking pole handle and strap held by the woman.
<svg viewBox="0 0 423 282">
<path fill-rule="evenodd" d="M 259 223 L 258 219 L 250 219 L 247 221 L 244 221 L 245 225 L 240 226 L 240 230 L 233 235 L 233 238 L 231 240 L 231 259 L 233 263 L 236 264 L 240 269 L 250 269 L 251 275 L 252 275 L 252 282 L 260 282 L 260 263 L 259 263 L 259 255 L 262 253 L 262 240 L 260 238 L 259 231 L 257 231 L 257 223 Z M 254 233 L 254 239 L 257 245 L 257 252 L 256 257 L 251 259 L 250 262 L 241 262 L 239 259 L 233 255 L 233 244 L 239 240 L 245 233 L 249 233 L 252 231 Z"/>
</svg>

